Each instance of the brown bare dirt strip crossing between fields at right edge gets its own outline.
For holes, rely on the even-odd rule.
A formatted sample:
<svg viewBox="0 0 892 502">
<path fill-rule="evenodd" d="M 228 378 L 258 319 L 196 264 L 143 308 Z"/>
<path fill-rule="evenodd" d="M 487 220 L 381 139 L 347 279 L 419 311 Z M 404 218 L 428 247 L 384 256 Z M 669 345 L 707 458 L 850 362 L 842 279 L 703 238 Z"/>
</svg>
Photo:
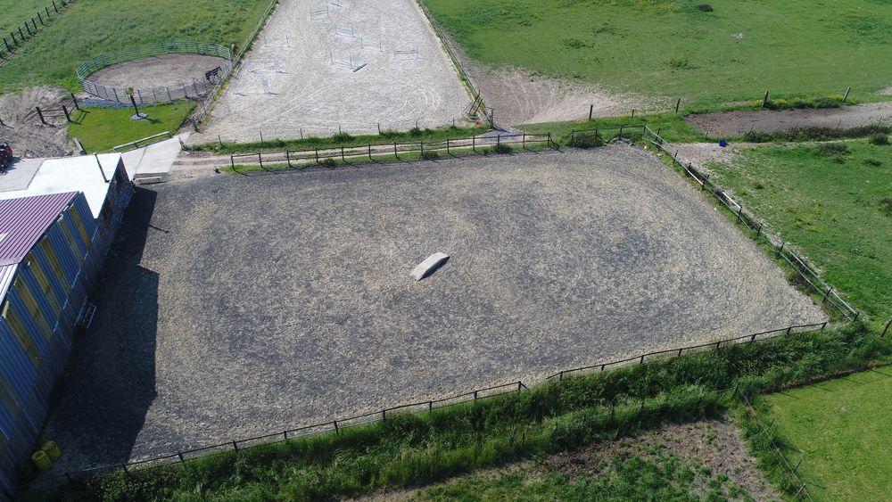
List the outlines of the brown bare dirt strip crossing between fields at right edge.
<svg viewBox="0 0 892 502">
<path fill-rule="evenodd" d="M 717 111 L 689 115 L 684 119 L 710 136 L 737 136 L 751 130 L 774 132 L 795 128 L 855 128 L 892 119 L 892 102 L 817 110 Z"/>
</svg>

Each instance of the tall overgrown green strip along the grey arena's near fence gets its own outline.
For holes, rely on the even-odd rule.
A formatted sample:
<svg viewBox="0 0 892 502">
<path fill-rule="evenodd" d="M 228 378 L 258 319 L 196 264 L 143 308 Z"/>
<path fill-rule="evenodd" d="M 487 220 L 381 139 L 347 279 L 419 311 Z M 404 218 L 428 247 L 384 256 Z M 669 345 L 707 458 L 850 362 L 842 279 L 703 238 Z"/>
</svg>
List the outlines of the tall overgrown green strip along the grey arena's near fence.
<svg viewBox="0 0 892 502">
<path fill-rule="evenodd" d="M 610 440 L 756 392 L 888 358 L 888 342 L 849 325 L 552 382 L 417 416 L 223 453 L 93 481 L 91 497 L 342 498 Z M 642 400 L 646 399 L 646 400 Z M 49 494 L 39 494 L 47 497 Z M 64 493 L 56 493 L 61 497 Z"/>
</svg>

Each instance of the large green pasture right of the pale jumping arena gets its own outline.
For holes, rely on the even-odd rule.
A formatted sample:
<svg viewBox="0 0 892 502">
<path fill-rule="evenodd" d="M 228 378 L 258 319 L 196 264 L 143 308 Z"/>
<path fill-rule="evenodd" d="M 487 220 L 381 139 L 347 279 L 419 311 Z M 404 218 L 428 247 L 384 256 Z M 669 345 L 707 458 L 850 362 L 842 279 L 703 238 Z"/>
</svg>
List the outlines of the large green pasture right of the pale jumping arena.
<svg viewBox="0 0 892 502">
<path fill-rule="evenodd" d="M 686 105 L 766 89 L 857 94 L 889 85 L 892 9 L 871 0 L 426 0 L 467 54 Z M 793 36 L 795 34 L 795 36 Z"/>
</svg>

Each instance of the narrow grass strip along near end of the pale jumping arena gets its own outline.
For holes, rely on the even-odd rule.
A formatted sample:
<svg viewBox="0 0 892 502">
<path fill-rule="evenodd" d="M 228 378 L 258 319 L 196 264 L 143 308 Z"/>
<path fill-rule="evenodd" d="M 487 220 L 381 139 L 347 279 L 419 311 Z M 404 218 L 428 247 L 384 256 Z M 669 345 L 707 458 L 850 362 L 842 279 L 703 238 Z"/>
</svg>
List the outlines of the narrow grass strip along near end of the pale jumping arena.
<svg viewBox="0 0 892 502">
<path fill-rule="evenodd" d="M 346 133 L 334 136 L 308 136 L 304 139 L 274 139 L 251 143 L 213 142 L 190 146 L 189 150 L 229 153 L 283 152 L 285 150 L 310 150 L 314 148 L 335 148 L 339 146 L 365 146 L 366 144 L 418 143 L 422 141 L 445 141 L 446 138 L 467 138 L 489 131 L 488 126 L 472 128 L 412 128 L 408 131 L 381 131 L 380 135 L 351 136 Z"/>
</svg>

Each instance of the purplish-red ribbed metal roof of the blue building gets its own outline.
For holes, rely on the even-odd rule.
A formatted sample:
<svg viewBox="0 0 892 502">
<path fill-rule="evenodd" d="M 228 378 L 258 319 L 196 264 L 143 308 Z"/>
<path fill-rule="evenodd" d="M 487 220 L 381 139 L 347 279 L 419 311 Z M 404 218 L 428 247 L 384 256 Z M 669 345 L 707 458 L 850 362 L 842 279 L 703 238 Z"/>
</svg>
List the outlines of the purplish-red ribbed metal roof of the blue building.
<svg viewBox="0 0 892 502">
<path fill-rule="evenodd" d="M 0 267 L 19 263 L 77 192 L 0 201 Z"/>
</svg>

